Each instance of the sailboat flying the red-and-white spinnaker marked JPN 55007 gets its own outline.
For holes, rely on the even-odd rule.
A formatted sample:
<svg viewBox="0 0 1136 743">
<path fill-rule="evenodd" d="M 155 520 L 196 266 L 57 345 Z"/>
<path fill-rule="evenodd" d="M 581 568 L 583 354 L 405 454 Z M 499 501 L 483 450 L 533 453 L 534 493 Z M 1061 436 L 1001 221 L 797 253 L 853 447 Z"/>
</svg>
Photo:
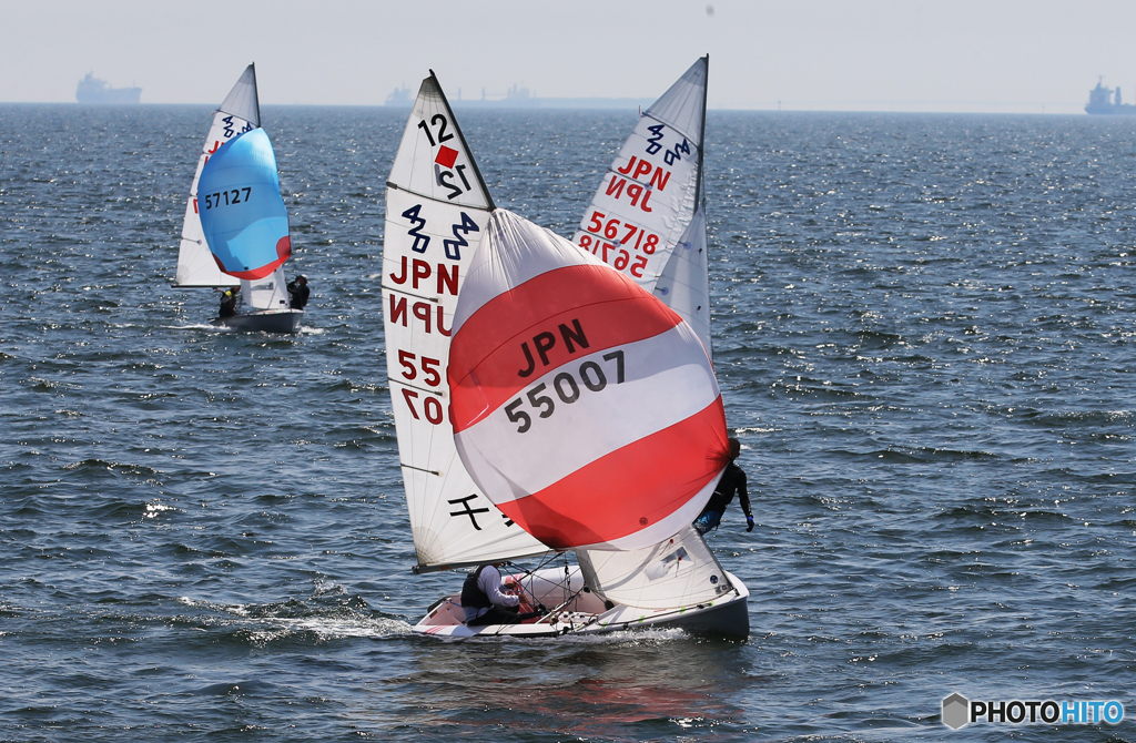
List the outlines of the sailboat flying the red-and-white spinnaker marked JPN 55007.
<svg viewBox="0 0 1136 743">
<path fill-rule="evenodd" d="M 690 527 L 727 445 L 691 325 L 595 256 L 496 208 L 433 72 L 386 195 L 387 378 L 414 570 L 538 559 L 512 577 L 549 608 L 468 627 L 449 595 L 414 631 L 746 636 L 747 590 Z M 556 563 L 566 553 L 578 565 Z"/>
</svg>

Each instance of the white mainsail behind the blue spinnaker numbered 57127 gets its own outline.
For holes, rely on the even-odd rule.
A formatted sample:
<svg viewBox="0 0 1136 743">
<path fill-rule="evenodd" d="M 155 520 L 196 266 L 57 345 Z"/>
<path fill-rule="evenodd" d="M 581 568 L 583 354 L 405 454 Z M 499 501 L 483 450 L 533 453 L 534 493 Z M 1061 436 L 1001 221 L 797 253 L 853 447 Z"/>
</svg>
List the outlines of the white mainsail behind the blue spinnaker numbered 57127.
<svg viewBox="0 0 1136 743">
<path fill-rule="evenodd" d="M 177 251 L 177 275 L 175 286 L 234 286 L 237 279 L 222 273 L 209 252 L 206 236 L 198 216 L 198 180 L 201 168 L 214 152 L 225 142 L 260 126 L 260 103 L 257 98 L 257 70 L 249 65 L 225 101 L 214 114 L 212 126 L 206 137 L 198 169 L 190 185 L 190 198 L 185 203 L 185 219 L 182 222 L 182 244 Z M 248 294 L 245 295 L 248 298 Z M 286 297 L 286 294 L 285 294 Z"/>
</svg>

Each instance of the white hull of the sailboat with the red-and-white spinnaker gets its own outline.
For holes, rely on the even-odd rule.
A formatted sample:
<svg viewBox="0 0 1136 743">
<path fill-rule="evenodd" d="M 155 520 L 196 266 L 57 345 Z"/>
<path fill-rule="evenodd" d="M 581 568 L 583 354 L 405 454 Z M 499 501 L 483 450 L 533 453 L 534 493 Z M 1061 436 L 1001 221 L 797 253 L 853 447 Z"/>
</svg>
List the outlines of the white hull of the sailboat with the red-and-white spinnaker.
<svg viewBox="0 0 1136 743">
<path fill-rule="evenodd" d="M 449 595 L 436 602 L 414 626 L 415 634 L 445 638 L 465 637 L 556 637 L 600 634 L 645 628 L 680 628 L 694 634 L 747 637 L 750 592 L 737 576 L 726 573 L 733 590 L 713 601 L 677 609 L 645 610 L 616 604 L 608 609 L 603 601 L 584 587 L 578 567 L 568 576 L 562 570 L 545 568 L 521 579 L 526 593 L 535 595 L 550 611 L 532 624 L 486 625 L 467 627 L 461 595 Z"/>
</svg>

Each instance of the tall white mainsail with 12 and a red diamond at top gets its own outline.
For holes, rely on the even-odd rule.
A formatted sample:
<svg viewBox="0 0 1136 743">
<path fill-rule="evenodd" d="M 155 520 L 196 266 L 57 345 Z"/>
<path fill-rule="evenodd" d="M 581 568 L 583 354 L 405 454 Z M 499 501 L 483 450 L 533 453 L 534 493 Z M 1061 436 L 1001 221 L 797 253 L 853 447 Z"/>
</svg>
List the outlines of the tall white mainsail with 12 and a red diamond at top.
<svg viewBox="0 0 1136 743">
<path fill-rule="evenodd" d="M 437 80 L 423 81 L 386 191 L 386 369 L 419 569 L 548 552 L 479 492 L 450 423 L 450 333 L 493 201 Z"/>
</svg>

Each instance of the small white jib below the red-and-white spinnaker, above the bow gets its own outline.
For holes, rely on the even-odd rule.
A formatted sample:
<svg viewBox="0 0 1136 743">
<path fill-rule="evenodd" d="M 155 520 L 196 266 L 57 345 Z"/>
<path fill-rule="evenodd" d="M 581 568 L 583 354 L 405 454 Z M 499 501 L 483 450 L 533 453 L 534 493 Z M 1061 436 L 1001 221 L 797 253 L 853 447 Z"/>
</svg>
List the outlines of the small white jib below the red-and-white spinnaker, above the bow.
<svg viewBox="0 0 1136 743">
<path fill-rule="evenodd" d="M 579 550 L 576 557 L 596 595 L 638 609 L 692 607 L 733 590 L 726 570 L 691 526 L 642 550 Z"/>
</svg>

